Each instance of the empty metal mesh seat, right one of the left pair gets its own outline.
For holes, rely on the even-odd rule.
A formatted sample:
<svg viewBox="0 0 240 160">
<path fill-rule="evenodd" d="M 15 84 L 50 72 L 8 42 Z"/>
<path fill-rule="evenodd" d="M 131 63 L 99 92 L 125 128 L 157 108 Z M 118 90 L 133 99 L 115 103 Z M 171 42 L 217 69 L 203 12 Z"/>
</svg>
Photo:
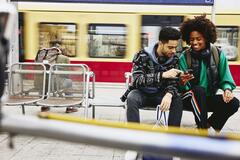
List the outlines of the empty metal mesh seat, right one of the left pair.
<svg viewBox="0 0 240 160">
<path fill-rule="evenodd" d="M 90 94 L 90 78 L 92 92 Z M 89 98 L 94 98 L 93 72 L 85 64 L 53 64 L 49 69 L 47 97 L 37 105 L 47 107 L 83 106 L 88 117 Z"/>
</svg>

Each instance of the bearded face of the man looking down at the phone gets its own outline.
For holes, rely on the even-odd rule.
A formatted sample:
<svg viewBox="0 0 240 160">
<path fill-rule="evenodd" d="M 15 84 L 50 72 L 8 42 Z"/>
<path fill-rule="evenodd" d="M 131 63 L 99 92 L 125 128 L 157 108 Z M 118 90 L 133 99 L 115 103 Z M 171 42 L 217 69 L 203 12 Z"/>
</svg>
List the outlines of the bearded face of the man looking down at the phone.
<svg viewBox="0 0 240 160">
<path fill-rule="evenodd" d="M 158 55 L 162 54 L 165 57 L 172 57 L 176 53 L 178 46 L 178 40 L 169 40 L 166 43 L 159 42 L 157 53 Z"/>
</svg>

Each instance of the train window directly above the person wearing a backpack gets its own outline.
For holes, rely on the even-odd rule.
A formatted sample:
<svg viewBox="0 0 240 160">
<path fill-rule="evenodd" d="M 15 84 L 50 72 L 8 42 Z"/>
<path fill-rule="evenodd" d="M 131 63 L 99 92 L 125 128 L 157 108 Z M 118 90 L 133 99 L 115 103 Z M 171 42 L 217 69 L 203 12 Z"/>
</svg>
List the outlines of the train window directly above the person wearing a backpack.
<svg viewBox="0 0 240 160">
<path fill-rule="evenodd" d="M 77 25 L 72 23 L 39 23 L 39 48 L 57 46 L 69 57 L 76 56 Z"/>
</svg>

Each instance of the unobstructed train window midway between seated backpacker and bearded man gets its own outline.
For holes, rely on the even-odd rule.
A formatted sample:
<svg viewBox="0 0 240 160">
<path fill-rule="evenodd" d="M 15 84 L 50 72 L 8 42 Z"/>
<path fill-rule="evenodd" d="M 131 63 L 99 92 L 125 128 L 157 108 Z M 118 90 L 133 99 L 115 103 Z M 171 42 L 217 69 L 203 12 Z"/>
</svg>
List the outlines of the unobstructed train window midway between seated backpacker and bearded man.
<svg viewBox="0 0 240 160">
<path fill-rule="evenodd" d="M 89 24 L 89 56 L 123 58 L 126 53 L 126 26 L 118 24 Z"/>
</svg>

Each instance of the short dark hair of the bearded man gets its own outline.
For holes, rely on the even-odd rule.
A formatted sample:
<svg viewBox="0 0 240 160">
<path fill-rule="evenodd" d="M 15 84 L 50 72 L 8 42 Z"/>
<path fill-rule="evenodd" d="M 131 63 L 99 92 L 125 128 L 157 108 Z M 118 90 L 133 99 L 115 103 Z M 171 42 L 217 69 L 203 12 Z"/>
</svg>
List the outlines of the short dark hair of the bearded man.
<svg viewBox="0 0 240 160">
<path fill-rule="evenodd" d="M 159 32 L 158 40 L 161 42 L 168 42 L 169 40 L 179 40 L 181 33 L 172 27 L 164 27 Z"/>
</svg>

